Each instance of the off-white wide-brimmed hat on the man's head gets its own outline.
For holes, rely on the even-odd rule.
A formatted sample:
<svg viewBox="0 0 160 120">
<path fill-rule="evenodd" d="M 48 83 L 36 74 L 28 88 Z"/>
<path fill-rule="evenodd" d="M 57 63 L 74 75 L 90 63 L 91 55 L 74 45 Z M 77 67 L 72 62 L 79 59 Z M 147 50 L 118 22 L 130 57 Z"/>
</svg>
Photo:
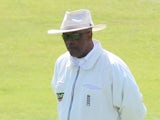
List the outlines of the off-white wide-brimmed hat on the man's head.
<svg viewBox="0 0 160 120">
<path fill-rule="evenodd" d="M 80 9 L 76 11 L 66 12 L 60 29 L 48 30 L 48 34 L 59 34 L 74 32 L 83 29 L 92 28 L 92 31 L 99 31 L 106 28 L 105 24 L 94 25 L 89 10 Z"/>
</svg>

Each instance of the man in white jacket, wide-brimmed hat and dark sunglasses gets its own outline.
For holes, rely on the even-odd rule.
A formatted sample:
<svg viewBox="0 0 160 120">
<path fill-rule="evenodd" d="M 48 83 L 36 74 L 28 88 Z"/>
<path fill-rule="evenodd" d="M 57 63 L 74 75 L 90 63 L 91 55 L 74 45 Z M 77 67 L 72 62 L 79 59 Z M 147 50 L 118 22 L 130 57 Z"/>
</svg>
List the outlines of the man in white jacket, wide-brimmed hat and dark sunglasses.
<svg viewBox="0 0 160 120">
<path fill-rule="evenodd" d="M 66 12 L 60 30 L 68 52 L 55 64 L 52 86 L 58 99 L 59 120 L 143 120 L 146 108 L 127 65 L 104 50 L 92 32 L 90 11 Z"/>
</svg>

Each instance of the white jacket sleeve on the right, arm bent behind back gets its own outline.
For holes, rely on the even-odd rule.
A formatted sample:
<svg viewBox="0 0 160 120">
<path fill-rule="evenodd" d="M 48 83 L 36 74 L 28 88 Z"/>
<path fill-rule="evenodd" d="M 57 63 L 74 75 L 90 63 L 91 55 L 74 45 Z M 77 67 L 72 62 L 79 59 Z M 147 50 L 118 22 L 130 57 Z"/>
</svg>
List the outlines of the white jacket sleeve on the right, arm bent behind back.
<svg viewBox="0 0 160 120">
<path fill-rule="evenodd" d="M 113 105 L 120 120 L 143 120 L 146 107 L 142 94 L 129 68 L 122 64 L 113 65 Z"/>
</svg>

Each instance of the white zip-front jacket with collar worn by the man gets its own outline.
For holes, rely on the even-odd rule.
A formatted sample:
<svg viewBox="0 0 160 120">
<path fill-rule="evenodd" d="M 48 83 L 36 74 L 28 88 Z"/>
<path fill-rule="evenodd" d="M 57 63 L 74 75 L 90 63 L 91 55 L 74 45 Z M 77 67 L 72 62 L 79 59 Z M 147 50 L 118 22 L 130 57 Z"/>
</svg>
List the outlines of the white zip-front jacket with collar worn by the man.
<svg viewBox="0 0 160 120">
<path fill-rule="evenodd" d="M 69 52 L 56 61 L 52 86 L 64 93 L 59 120 L 143 120 L 146 108 L 129 68 L 99 42 L 95 46 L 83 64 L 71 61 Z"/>
</svg>

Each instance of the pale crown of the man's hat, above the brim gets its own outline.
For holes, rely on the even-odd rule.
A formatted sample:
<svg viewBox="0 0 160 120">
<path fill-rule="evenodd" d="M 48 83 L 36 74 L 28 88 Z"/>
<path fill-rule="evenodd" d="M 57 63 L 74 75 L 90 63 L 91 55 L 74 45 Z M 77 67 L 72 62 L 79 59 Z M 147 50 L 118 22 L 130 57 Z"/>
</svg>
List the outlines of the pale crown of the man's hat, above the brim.
<svg viewBox="0 0 160 120">
<path fill-rule="evenodd" d="M 78 28 L 90 28 L 93 27 L 93 21 L 89 10 L 81 9 L 72 12 L 66 12 L 63 22 L 61 24 L 61 30 L 70 30 Z"/>
</svg>

